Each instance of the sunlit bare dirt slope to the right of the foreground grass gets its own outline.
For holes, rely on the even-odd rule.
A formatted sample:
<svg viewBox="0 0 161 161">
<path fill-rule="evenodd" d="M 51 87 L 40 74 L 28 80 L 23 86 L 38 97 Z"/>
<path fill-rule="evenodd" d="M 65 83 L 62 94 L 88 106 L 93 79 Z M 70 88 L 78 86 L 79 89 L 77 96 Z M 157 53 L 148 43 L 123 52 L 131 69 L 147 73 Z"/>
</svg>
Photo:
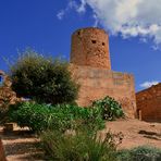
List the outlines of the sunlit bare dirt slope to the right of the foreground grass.
<svg viewBox="0 0 161 161">
<path fill-rule="evenodd" d="M 119 148 L 133 148 L 141 145 L 149 145 L 161 148 L 161 123 L 147 123 L 138 120 L 124 120 L 108 122 L 106 133 L 111 129 L 112 133 L 122 132 L 123 143 Z"/>
</svg>

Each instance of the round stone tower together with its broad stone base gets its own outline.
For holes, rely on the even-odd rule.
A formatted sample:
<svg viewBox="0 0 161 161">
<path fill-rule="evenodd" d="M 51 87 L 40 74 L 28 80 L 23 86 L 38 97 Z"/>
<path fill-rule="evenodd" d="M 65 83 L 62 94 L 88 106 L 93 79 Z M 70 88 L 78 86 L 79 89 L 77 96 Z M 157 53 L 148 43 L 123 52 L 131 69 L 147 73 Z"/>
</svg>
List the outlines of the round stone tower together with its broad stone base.
<svg viewBox="0 0 161 161">
<path fill-rule="evenodd" d="M 103 29 L 82 28 L 72 35 L 71 69 L 81 84 L 79 106 L 110 96 L 122 104 L 128 117 L 135 117 L 134 77 L 111 70 L 109 36 Z"/>
</svg>

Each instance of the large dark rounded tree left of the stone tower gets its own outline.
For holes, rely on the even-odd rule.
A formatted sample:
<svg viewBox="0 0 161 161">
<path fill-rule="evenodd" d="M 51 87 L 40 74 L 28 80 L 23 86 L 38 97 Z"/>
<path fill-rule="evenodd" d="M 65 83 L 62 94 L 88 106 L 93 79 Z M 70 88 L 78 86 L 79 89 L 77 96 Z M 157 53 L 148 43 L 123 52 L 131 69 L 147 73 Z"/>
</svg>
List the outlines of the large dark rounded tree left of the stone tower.
<svg viewBox="0 0 161 161">
<path fill-rule="evenodd" d="M 11 65 L 12 89 L 18 97 L 45 103 L 70 103 L 78 92 L 69 63 L 27 49 Z"/>
</svg>

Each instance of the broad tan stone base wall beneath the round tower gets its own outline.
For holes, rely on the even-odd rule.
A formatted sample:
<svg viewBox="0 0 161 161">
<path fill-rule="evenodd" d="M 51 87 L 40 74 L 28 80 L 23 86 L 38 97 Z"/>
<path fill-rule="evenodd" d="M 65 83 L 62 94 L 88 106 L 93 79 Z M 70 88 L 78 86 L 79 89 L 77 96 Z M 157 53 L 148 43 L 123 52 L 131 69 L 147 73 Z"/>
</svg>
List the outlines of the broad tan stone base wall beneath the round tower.
<svg viewBox="0 0 161 161">
<path fill-rule="evenodd" d="M 71 69 L 73 77 L 81 85 L 77 99 L 79 106 L 89 106 L 94 100 L 110 96 L 122 104 L 128 117 L 135 117 L 136 99 L 133 75 L 75 64 L 71 64 Z"/>
</svg>

